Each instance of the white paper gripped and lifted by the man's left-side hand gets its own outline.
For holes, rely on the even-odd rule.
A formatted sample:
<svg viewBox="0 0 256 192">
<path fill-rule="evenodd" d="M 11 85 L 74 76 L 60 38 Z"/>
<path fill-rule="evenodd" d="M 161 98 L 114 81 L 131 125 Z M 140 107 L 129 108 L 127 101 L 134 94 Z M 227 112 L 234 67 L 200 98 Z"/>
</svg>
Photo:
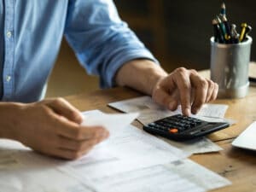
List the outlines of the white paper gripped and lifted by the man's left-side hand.
<svg viewBox="0 0 256 192">
<path fill-rule="evenodd" d="M 130 125 L 139 113 L 83 113 L 82 125 L 100 125 L 108 129 L 110 134 L 120 130 L 122 127 Z"/>
</svg>

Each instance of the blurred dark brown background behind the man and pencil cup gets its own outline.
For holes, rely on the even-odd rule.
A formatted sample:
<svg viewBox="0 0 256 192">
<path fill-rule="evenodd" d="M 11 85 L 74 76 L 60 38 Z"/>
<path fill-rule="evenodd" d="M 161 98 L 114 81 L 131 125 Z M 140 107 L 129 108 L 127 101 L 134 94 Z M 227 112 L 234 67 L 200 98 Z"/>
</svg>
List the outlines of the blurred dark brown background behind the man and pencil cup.
<svg viewBox="0 0 256 192">
<path fill-rule="evenodd" d="M 219 0 L 114 0 L 120 17 L 150 49 L 167 72 L 176 67 L 209 68 L 212 19 L 218 15 Z M 241 22 L 253 26 L 256 39 L 256 1 L 224 2 L 230 23 L 240 32 Z M 256 60 L 256 44 L 251 57 Z M 49 79 L 47 96 L 67 96 L 98 89 L 98 79 L 89 77 L 65 40 Z"/>
</svg>

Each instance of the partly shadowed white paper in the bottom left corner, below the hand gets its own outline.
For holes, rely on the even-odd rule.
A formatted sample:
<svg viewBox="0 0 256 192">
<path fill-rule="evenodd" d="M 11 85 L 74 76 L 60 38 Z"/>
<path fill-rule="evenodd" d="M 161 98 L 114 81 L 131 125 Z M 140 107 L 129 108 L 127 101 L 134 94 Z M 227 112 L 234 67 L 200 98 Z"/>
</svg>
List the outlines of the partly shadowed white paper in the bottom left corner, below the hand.
<svg viewBox="0 0 256 192">
<path fill-rule="evenodd" d="M 0 191 L 94 191 L 85 181 L 81 183 L 57 169 L 66 162 L 36 154 L 20 143 L 0 139 Z"/>
</svg>

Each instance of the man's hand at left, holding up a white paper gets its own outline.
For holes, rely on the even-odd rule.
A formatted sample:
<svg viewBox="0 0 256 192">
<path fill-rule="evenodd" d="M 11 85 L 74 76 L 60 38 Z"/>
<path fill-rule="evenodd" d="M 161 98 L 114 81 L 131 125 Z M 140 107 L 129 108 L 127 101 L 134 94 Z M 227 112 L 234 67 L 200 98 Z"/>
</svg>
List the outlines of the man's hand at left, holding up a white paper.
<svg viewBox="0 0 256 192">
<path fill-rule="evenodd" d="M 109 134 L 100 126 L 80 125 L 79 110 L 61 98 L 20 104 L 13 113 L 13 139 L 43 154 L 64 159 L 87 154 Z"/>
</svg>

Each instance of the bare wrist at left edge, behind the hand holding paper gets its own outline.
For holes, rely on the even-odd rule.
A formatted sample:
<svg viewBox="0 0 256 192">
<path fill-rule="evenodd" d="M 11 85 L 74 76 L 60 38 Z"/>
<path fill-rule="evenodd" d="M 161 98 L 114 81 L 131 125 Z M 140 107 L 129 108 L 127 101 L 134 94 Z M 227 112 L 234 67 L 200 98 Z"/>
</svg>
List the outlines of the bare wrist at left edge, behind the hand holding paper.
<svg viewBox="0 0 256 192">
<path fill-rule="evenodd" d="M 15 127 L 17 111 L 23 104 L 16 102 L 0 102 L 0 138 L 16 139 Z"/>
</svg>

